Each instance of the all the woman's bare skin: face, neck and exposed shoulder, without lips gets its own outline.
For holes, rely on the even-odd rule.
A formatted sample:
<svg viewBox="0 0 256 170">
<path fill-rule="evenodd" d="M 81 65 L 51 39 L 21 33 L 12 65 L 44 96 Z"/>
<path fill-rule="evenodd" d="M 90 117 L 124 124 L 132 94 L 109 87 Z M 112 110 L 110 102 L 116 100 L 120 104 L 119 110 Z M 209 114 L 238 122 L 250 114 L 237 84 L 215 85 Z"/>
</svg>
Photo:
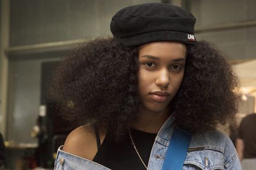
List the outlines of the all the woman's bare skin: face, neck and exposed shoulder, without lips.
<svg viewBox="0 0 256 170">
<path fill-rule="evenodd" d="M 132 128 L 157 133 L 171 115 L 169 104 L 176 95 L 184 76 L 186 46 L 180 42 L 152 42 L 139 48 L 138 89 L 143 107 Z M 155 91 L 170 93 L 167 100 L 153 100 Z M 65 141 L 63 151 L 92 160 L 97 153 L 95 134 L 81 126 Z M 105 134 L 100 137 L 101 143 Z"/>
</svg>

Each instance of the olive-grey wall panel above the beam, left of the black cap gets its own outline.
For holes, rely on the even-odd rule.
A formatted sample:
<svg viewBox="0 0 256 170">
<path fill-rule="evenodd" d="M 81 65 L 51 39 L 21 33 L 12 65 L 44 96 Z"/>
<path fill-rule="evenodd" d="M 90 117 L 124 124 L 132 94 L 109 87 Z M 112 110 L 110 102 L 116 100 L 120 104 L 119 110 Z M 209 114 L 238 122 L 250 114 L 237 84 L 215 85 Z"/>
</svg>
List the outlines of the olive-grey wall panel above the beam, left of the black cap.
<svg viewBox="0 0 256 170">
<path fill-rule="evenodd" d="M 10 45 L 110 36 L 114 13 L 127 5 L 160 1 L 11 1 Z"/>
</svg>

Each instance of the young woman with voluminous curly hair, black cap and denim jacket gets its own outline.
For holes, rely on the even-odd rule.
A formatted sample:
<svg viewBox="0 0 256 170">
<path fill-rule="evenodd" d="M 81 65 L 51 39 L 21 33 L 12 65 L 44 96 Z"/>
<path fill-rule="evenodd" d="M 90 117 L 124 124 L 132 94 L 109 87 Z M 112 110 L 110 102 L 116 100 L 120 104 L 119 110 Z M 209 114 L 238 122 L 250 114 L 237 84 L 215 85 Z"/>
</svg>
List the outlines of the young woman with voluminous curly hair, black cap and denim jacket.
<svg viewBox="0 0 256 170">
<path fill-rule="evenodd" d="M 166 160 L 177 128 L 192 134 L 182 169 L 241 169 L 231 140 L 215 130 L 234 119 L 238 81 L 222 53 L 197 42 L 195 22 L 174 5 L 133 5 L 113 16 L 113 38 L 70 53 L 52 91 L 82 126 L 59 148 L 55 169 L 162 169 L 179 159 L 177 150 Z"/>
</svg>

